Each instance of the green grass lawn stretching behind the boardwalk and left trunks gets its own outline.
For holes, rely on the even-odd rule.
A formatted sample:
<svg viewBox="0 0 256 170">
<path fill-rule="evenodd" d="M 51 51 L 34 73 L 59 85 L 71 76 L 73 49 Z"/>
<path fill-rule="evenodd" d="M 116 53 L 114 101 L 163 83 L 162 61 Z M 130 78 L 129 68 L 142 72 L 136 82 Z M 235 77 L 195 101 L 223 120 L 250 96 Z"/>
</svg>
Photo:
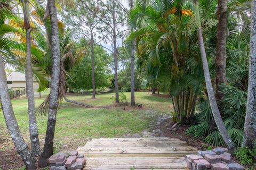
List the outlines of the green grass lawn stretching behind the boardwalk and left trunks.
<svg viewBox="0 0 256 170">
<path fill-rule="evenodd" d="M 46 91 L 42 98 L 35 98 L 38 107 L 49 94 Z M 63 101 L 57 113 L 57 124 L 55 129 L 54 148 L 55 152 L 76 149 L 84 146 L 87 138 L 113 138 L 121 137 L 127 133 L 139 133 L 148 130 L 149 122 L 154 121 L 157 115 L 171 113 L 171 99 L 150 92 L 135 92 L 137 103 L 143 104 L 142 109 L 126 109 L 124 106 L 114 107 L 113 98 L 115 94 L 97 95 L 96 99 L 85 95 L 69 95 L 68 99 L 81 101 L 86 104 L 98 106 L 96 108 L 85 108 Z M 125 92 L 130 101 L 130 92 Z M 25 140 L 29 143 L 27 98 L 25 96 L 12 100 L 14 114 L 17 118 L 20 130 Z M 108 107 L 99 107 L 108 106 Z M 130 108 L 130 107 L 128 107 Z M 155 115 L 148 116 L 147 110 L 154 110 Z M 1 111 L 0 111 L 1 112 Z M 47 115 L 37 116 L 37 125 L 41 145 L 47 124 Z M 0 114 L 0 151 L 13 148 L 10 134 L 6 129 L 3 114 Z"/>
</svg>

